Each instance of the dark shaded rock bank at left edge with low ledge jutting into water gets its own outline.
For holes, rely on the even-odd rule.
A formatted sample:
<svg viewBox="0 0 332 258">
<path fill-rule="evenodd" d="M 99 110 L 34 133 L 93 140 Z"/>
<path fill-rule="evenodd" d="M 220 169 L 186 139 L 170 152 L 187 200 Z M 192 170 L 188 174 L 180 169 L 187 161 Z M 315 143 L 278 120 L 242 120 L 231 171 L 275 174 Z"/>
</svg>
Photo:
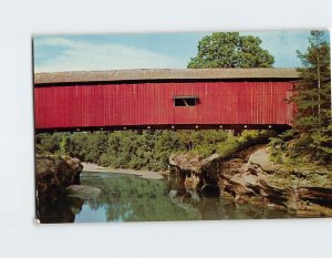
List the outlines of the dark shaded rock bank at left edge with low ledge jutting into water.
<svg viewBox="0 0 332 258">
<path fill-rule="evenodd" d="M 84 200 L 101 194 L 97 188 L 79 185 L 82 169 L 79 158 L 37 155 L 35 204 L 41 223 L 73 223 Z"/>
</svg>

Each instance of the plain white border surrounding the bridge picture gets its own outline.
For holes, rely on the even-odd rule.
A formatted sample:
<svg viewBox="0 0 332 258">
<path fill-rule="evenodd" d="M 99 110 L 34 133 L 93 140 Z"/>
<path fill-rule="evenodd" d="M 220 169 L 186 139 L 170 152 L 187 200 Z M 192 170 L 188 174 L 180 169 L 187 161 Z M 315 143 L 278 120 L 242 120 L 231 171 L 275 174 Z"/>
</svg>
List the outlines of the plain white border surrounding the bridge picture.
<svg viewBox="0 0 332 258">
<path fill-rule="evenodd" d="M 1 24 L 1 257 L 319 257 L 332 219 L 35 225 L 31 37 L 331 28 L 323 0 L 7 1 Z M 326 257 L 326 256 L 324 256 Z"/>
</svg>

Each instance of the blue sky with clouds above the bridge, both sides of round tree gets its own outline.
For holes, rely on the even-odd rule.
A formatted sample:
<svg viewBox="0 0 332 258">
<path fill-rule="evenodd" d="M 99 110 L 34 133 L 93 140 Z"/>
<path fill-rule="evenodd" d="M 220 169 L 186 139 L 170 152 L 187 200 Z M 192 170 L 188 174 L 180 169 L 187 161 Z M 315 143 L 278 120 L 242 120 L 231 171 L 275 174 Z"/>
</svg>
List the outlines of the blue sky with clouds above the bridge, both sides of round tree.
<svg viewBox="0 0 332 258">
<path fill-rule="evenodd" d="M 328 32 L 326 32 L 328 33 Z M 197 54 L 197 43 L 211 32 L 39 35 L 34 37 L 35 72 L 118 69 L 185 69 Z M 308 48 L 309 30 L 246 31 L 276 59 L 276 68 L 301 65 L 295 51 Z"/>
</svg>

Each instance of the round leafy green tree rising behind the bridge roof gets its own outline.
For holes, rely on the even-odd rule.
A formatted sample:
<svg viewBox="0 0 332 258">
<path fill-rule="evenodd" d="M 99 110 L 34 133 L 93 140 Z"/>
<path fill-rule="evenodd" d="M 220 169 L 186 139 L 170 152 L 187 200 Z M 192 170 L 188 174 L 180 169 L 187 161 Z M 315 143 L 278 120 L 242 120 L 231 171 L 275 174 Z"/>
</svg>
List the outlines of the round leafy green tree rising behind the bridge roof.
<svg viewBox="0 0 332 258">
<path fill-rule="evenodd" d="M 261 40 L 239 32 L 216 32 L 198 42 L 198 53 L 189 69 L 271 68 L 274 58 L 260 47 Z"/>
</svg>

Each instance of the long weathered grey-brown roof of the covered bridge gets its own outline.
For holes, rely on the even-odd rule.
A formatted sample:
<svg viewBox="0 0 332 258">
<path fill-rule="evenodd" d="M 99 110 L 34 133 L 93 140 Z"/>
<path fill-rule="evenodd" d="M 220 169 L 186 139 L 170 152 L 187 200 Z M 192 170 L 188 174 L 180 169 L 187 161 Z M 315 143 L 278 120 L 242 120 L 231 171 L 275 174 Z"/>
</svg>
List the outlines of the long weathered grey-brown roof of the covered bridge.
<svg viewBox="0 0 332 258">
<path fill-rule="evenodd" d="M 138 69 L 35 73 L 34 84 L 120 81 L 299 79 L 295 69 Z"/>
</svg>

